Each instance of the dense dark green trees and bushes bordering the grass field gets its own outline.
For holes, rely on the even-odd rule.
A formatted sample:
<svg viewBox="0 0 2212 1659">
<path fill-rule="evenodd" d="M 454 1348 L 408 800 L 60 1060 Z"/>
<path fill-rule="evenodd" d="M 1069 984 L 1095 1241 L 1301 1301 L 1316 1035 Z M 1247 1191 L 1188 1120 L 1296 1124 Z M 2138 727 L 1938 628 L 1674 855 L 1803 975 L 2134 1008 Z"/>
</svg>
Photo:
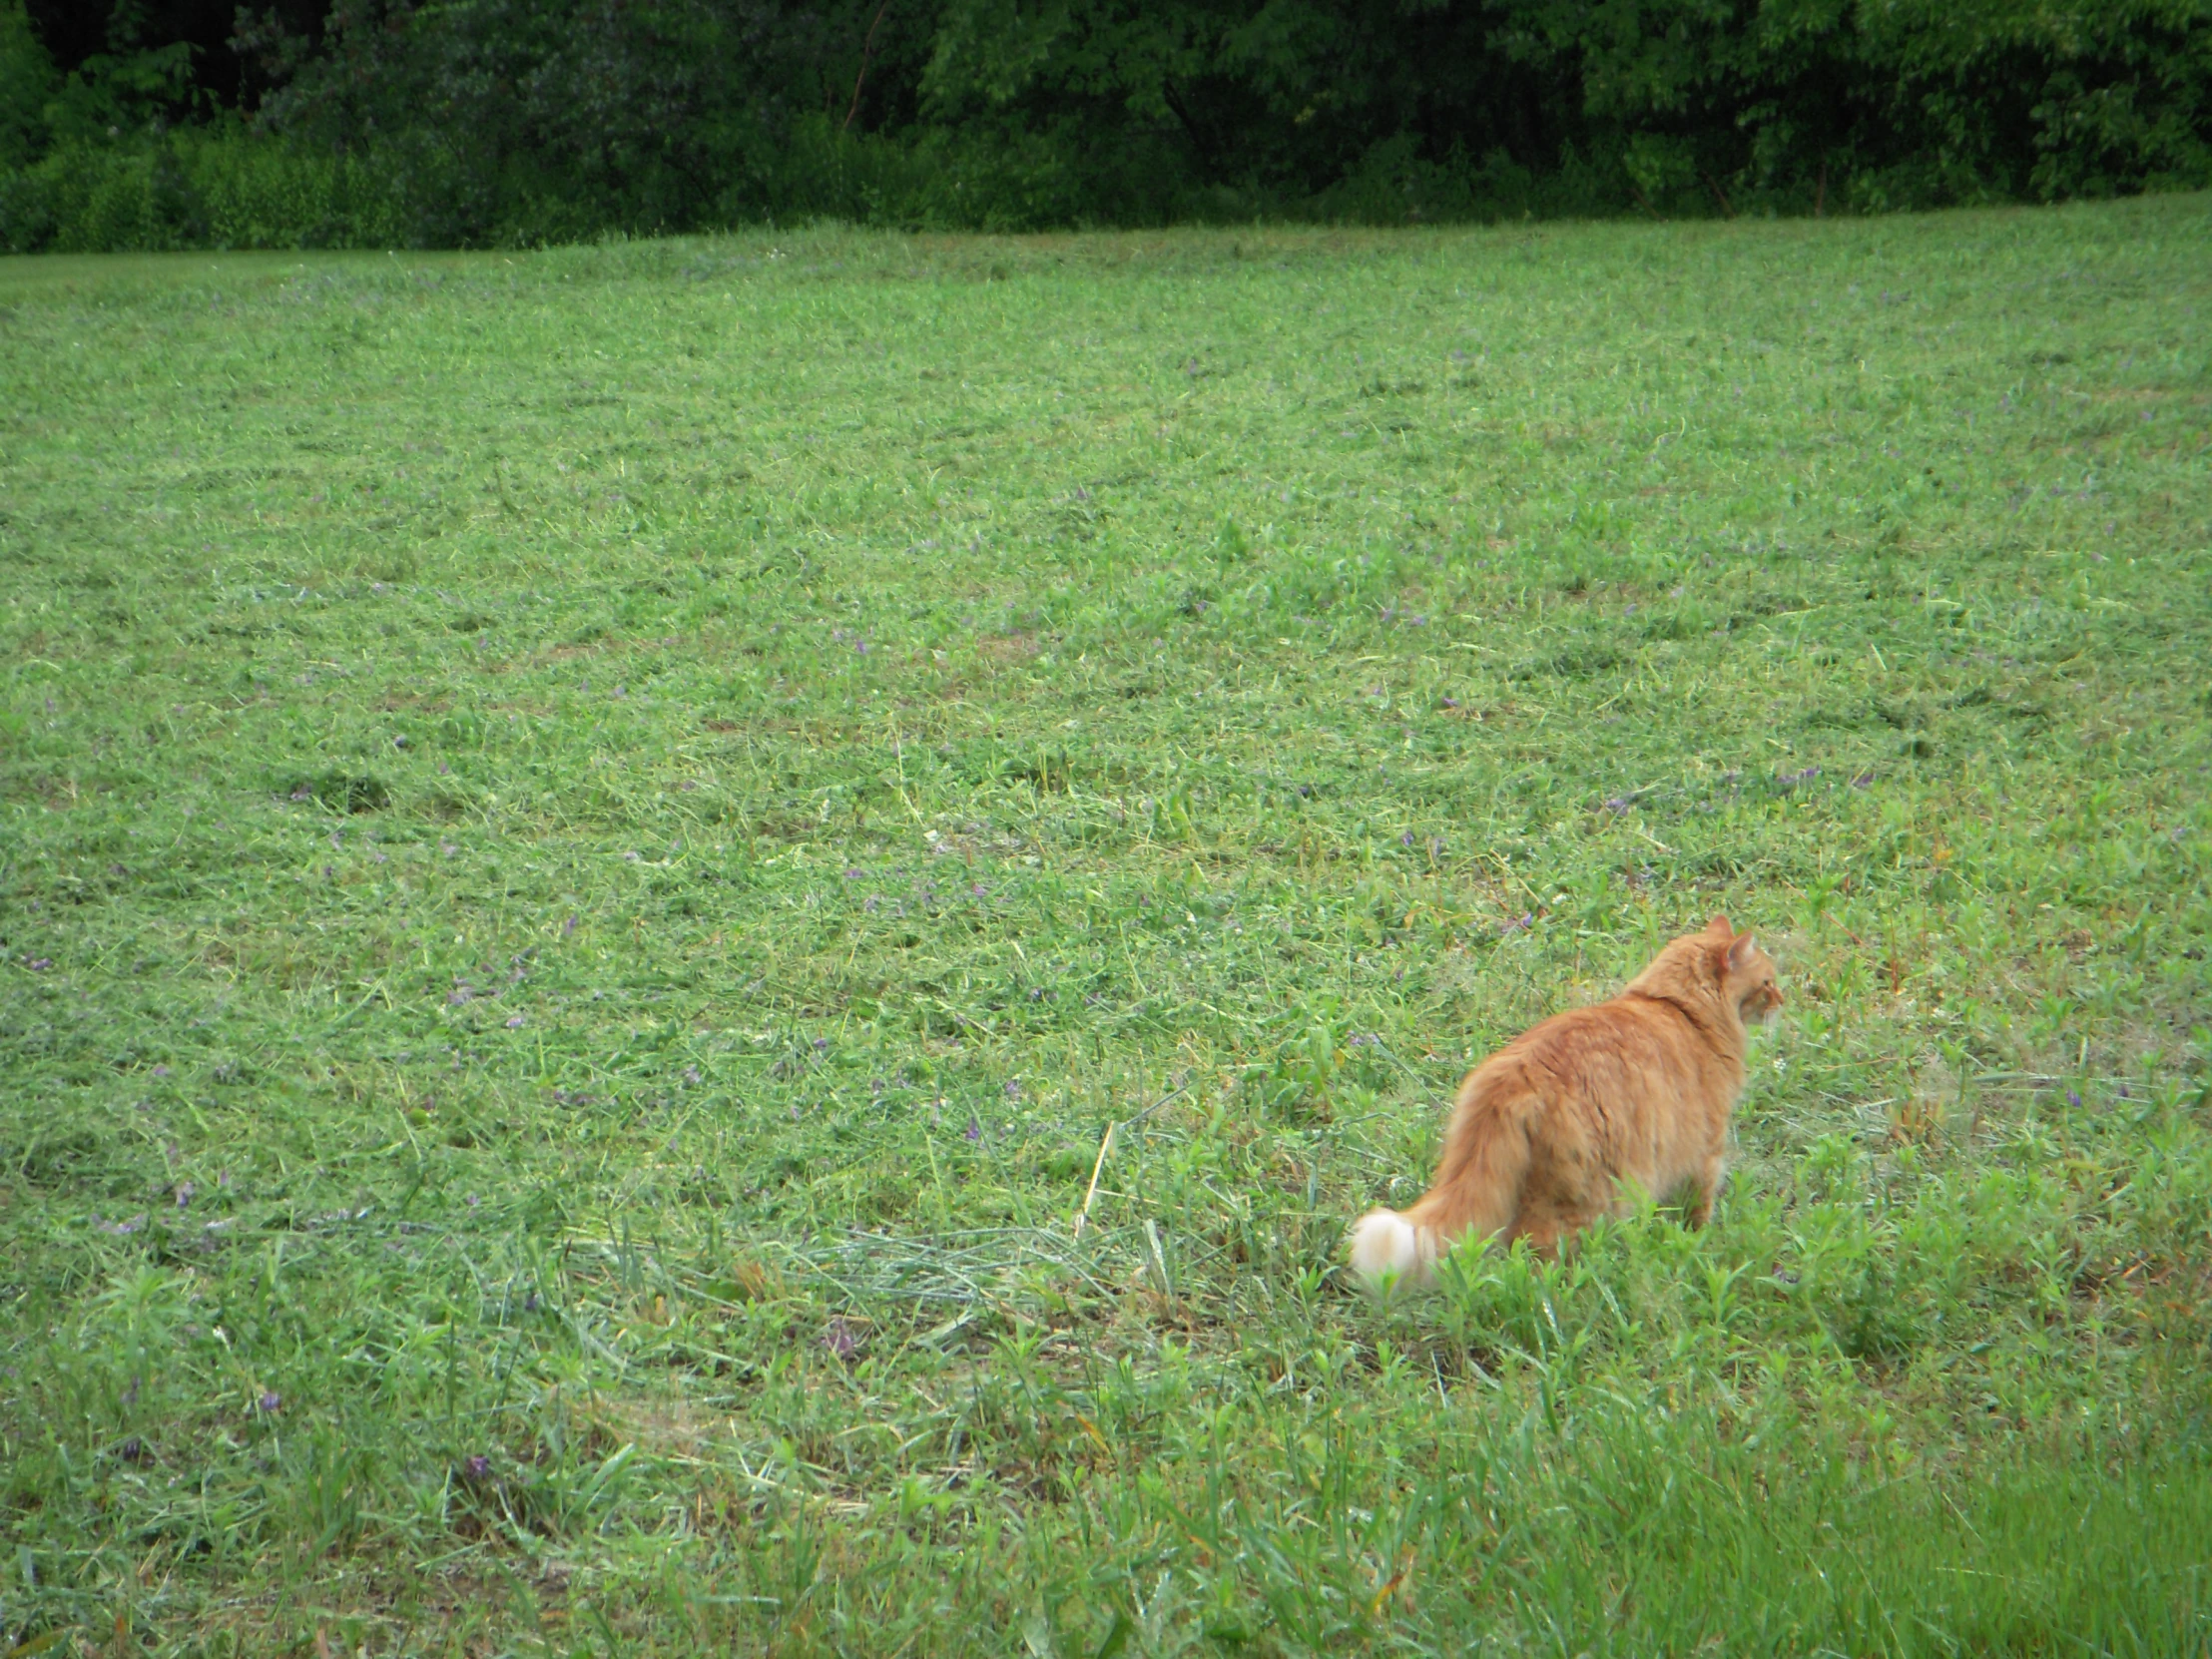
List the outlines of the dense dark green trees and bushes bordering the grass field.
<svg viewBox="0 0 2212 1659">
<path fill-rule="evenodd" d="M 2212 0 L 294 0 L 228 24 L 115 0 L 100 51 L 73 15 L 58 55 L 60 22 L 0 0 L 15 248 L 1820 212 L 2212 179 Z"/>
</svg>

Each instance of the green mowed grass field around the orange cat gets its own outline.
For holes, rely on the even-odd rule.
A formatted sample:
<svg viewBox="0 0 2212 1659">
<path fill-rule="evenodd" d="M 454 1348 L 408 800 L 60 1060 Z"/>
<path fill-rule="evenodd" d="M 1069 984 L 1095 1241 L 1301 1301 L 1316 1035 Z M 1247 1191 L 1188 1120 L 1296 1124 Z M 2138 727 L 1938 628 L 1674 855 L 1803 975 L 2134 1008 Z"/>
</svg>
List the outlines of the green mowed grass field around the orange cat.
<svg viewBox="0 0 2212 1659">
<path fill-rule="evenodd" d="M 2203 1652 L 2208 367 L 2203 197 L 0 261 L 0 1650 Z M 1714 911 L 1714 1225 L 1356 1294 Z"/>
</svg>

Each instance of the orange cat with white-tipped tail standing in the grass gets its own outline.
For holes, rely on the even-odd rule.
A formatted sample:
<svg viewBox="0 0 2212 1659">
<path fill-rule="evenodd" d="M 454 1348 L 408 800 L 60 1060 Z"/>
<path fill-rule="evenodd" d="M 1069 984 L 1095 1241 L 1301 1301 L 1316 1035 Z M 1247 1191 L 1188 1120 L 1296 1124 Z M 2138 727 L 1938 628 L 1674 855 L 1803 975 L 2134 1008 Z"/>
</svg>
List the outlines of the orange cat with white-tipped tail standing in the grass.
<svg viewBox="0 0 2212 1659">
<path fill-rule="evenodd" d="M 1352 1267 L 1376 1287 L 1418 1285 L 1469 1232 L 1551 1254 L 1632 1190 L 1688 1192 L 1690 1225 L 1703 1225 L 1743 1093 L 1745 1022 L 1781 1004 L 1774 962 L 1714 916 L 1613 1002 L 1524 1031 L 1460 1084 L 1427 1197 L 1352 1230 Z"/>
</svg>

